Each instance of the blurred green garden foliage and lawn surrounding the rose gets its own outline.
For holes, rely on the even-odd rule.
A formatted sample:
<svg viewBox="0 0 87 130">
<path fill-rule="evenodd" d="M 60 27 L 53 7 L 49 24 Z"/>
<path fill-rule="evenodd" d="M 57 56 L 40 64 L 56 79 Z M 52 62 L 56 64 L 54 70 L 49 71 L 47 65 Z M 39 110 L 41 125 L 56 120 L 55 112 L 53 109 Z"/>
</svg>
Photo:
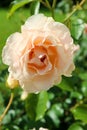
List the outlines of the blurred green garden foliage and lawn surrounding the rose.
<svg viewBox="0 0 87 130">
<path fill-rule="evenodd" d="M 21 2 L 23 4 L 21 6 Z M 53 0 L 43 0 L 52 6 Z M 53 8 L 56 21 L 64 19 L 81 0 L 58 0 Z M 20 7 L 17 8 L 17 5 Z M 29 0 L 0 0 L 0 115 L 8 104 L 11 90 L 6 85 L 8 66 L 2 63 L 2 48 L 8 36 L 21 31 L 21 25 L 35 10 L 52 16 L 43 3 Z M 74 43 L 80 50 L 74 57 L 72 77 L 63 76 L 61 84 L 49 91 L 29 94 L 22 99 L 20 87 L 14 90 L 12 105 L 0 124 L 0 130 L 87 130 L 87 1 L 67 20 Z"/>
</svg>

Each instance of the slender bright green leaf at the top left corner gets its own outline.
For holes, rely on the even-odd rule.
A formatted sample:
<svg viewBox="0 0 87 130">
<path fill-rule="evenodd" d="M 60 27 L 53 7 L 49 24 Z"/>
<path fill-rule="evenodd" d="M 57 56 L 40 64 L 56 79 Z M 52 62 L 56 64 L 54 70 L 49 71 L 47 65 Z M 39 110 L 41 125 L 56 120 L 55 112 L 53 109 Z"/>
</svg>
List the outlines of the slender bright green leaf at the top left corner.
<svg viewBox="0 0 87 130">
<path fill-rule="evenodd" d="M 22 7 L 22 6 L 26 5 L 26 4 L 28 4 L 28 3 L 30 3 L 30 2 L 33 2 L 33 1 L 35 1 L 35 0 L 22 0 L 22 1 L 18 2 L 18 3 L 15 3 L 15 4 L 12 6 L 10 12 L 8 13 L 8 18 L 11 17 L 12 14 L 13 14 L 18 8 L 20 8 L 20 7 Z"/>
</svg>

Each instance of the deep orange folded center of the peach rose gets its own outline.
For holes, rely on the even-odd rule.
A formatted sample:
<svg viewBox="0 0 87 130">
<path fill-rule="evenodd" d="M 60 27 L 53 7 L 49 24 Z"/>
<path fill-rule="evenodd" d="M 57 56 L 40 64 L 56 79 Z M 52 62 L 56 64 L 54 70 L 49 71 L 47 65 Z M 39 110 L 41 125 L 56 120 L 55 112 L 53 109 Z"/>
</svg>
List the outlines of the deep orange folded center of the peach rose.
<svg viewBox="0 0 87 130">
<path fill-rule="evenodd" d="M 32 66 L 38 70 L 45 69 L 48 64 L 46 50 L 43 47 L 35 47 L 29 53 L 28 66 Z"/>
</svg>

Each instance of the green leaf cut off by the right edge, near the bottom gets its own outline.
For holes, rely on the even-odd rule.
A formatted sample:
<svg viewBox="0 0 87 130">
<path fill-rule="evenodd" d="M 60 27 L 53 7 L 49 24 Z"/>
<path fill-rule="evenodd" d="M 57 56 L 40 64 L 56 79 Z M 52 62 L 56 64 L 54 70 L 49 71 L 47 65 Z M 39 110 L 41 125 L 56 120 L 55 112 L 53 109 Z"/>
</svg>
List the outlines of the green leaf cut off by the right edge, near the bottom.
<svg viewBox="0 0 87 130">
<path fill-rule="evenodd" d="M 71 110 L 76 120 L 82 120 L 87 123 L 87 104 L 82 104 Z"/>
</svg>

